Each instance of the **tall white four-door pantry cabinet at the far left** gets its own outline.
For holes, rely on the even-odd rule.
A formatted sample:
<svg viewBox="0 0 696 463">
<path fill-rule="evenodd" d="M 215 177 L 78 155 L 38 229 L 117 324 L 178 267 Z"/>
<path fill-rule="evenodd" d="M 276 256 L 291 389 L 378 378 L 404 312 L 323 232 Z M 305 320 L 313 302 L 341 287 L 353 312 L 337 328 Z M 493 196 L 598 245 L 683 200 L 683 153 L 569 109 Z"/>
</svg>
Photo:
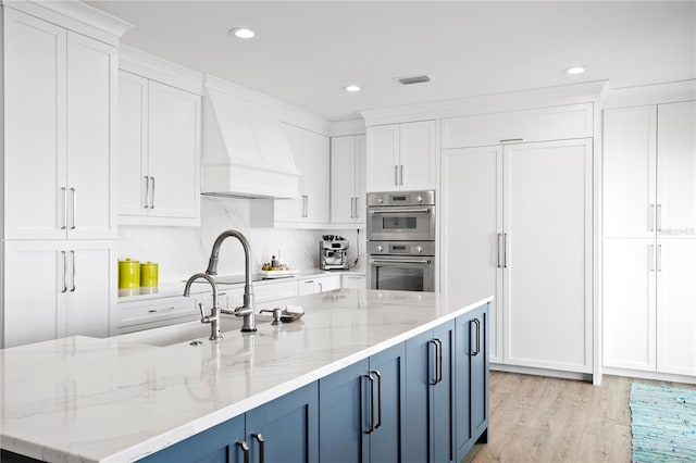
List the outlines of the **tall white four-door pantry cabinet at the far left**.
<svg viewBox="0 0 696 463">
<path fill-rule="evenodd" d="M 1 9 L 4 348 L 107 336 L 115 302 L 116 46 L 129 25 L 87 7 L 100 26 L 73 22 L 55 3 Z"/>
</svg>

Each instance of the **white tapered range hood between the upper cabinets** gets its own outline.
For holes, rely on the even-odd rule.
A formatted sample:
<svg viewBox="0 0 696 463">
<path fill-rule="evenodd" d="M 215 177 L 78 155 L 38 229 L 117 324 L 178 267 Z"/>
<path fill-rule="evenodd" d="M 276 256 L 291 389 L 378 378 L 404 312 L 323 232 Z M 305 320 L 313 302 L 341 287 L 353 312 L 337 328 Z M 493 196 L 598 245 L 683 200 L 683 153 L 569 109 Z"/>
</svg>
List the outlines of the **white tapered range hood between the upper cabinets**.
<svg viewBox="0 0 696 463">
<path fill-rule="evenodd" d="M 231 198 L 299 198 L 300 172 L 274 100 L 206 76 L 201 192 Z M 261 102 L 257 102 L 257 101 Z"/>
</svg>

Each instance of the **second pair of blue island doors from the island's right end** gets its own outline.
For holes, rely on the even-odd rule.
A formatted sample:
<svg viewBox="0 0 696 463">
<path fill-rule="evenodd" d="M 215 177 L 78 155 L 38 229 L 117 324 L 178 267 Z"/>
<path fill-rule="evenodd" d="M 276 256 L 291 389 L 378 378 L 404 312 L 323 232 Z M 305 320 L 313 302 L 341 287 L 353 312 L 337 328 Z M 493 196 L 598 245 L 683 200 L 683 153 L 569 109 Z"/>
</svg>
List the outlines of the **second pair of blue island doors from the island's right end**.
<svg viewBox="0 0 696 463">
<path fill-rule="evenodd" d="M 406 341 L 405 462 L 455 460 L 455 321 Z"/>
</svg>

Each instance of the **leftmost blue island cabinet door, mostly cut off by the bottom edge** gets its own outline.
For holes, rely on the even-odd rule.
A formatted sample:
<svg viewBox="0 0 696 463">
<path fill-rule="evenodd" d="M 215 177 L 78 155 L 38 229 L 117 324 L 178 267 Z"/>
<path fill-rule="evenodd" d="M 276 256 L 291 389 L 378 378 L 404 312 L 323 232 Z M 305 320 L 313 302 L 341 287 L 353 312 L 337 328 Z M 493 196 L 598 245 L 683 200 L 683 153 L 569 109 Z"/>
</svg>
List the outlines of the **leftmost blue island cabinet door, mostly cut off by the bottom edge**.
<svg viewBox="0 0 696 463">
<path fill-rule="evenodd" d="M 237 416 L 139 462 L 244 463 L 244 415 Z"/>
</svg>

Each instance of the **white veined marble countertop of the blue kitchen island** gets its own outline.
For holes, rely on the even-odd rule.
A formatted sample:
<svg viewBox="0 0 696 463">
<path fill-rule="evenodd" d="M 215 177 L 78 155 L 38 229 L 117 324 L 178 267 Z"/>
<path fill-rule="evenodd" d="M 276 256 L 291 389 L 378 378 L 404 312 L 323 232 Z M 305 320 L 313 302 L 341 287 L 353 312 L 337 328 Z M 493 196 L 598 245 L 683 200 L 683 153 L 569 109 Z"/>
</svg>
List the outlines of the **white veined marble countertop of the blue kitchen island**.
<svg viewBox="0 0 696 463">
<path fill-rule="evenodd" d="M 127 462 L 298 389 L 490 301 L 339 289 L 304 316 L 169 347 L 70 337 L 0 350 L 0 443 L 49 462 Z M 170 328 L 171 329 L 171 328 Z"/>
</svg>

